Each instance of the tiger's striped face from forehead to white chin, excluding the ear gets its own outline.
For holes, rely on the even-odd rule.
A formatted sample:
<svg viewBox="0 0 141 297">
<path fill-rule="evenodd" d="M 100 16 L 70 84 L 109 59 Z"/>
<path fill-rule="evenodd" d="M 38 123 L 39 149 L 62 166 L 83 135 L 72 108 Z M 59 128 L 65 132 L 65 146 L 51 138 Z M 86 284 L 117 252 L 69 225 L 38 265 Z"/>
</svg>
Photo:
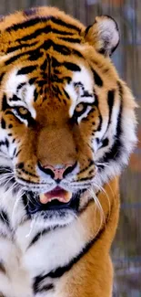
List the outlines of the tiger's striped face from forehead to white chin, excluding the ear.
<svg viewBox="0 0 141 297">
<path fill-rule="evenodd" d="M 115 21 L 98 17 L 86 29 L 61 16 L 6 27 L 0 58 L 2 186 L 49 225 L 76 217 L 136 143 L 135 103 L 108 58 Z"/>
</svg>

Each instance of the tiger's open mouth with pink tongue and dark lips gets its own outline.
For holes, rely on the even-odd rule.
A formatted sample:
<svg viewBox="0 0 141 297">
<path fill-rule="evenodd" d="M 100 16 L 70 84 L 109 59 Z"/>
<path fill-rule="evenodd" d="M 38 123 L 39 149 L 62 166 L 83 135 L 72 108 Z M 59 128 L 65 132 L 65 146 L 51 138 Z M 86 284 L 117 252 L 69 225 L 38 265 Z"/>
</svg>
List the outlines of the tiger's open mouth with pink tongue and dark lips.
<svg viewBox="0 0 141 297">
<path fill-rule="evenodd" d="M 76 212 L 79 207 L 80 192 L 82 191 L 73 194 L 56 186 L 54 190 L 37 196 L 31 193 L 27 203 L 28 214 L 34 215 L 37 212 L 62 209 L 70 209 Z"/>
</svg>

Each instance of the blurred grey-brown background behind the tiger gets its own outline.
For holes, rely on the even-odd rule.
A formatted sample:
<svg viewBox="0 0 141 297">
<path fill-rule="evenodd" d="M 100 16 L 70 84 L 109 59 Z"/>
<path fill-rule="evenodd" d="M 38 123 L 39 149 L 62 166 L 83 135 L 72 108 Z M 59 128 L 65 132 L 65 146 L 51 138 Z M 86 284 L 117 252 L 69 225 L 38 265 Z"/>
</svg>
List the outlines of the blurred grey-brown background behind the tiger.
<svg viewBox="0 0 141 297">
<path fill-rule="evenodd" d="M 141 0 L 0 0 L 0 15 L 37 5 L 54 5 L 86 26 L 96 16 L 116 19 L 121 41 L 113 61 L 122 79 L 141 101 Z M 141 140 L 141 110 L 138 109 Z M 112 257 L 116 269 L 114 297 L 141 297 L 141 143 L 121 177 L 121 213 Z M 100 296 L 102 297 L 102 296 Z"/>
</svg>

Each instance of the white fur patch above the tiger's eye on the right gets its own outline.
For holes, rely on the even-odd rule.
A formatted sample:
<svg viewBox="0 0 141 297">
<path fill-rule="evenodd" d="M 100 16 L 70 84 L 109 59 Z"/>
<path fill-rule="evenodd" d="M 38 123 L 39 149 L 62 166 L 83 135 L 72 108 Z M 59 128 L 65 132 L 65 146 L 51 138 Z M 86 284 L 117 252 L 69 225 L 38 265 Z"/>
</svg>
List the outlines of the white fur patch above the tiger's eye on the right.
<svg viewBox="0 0 141 297">
<path fill-rule="evenodd" d="M 65 91 L 71 98 L 70 117 L 80 102 L 93 103 L 95 101 L 92 74 L 84 65 L 79 65 L 79 68 L 80 71 L 74 72 L 72 81 L 65 85 Z"/>
</svg>

